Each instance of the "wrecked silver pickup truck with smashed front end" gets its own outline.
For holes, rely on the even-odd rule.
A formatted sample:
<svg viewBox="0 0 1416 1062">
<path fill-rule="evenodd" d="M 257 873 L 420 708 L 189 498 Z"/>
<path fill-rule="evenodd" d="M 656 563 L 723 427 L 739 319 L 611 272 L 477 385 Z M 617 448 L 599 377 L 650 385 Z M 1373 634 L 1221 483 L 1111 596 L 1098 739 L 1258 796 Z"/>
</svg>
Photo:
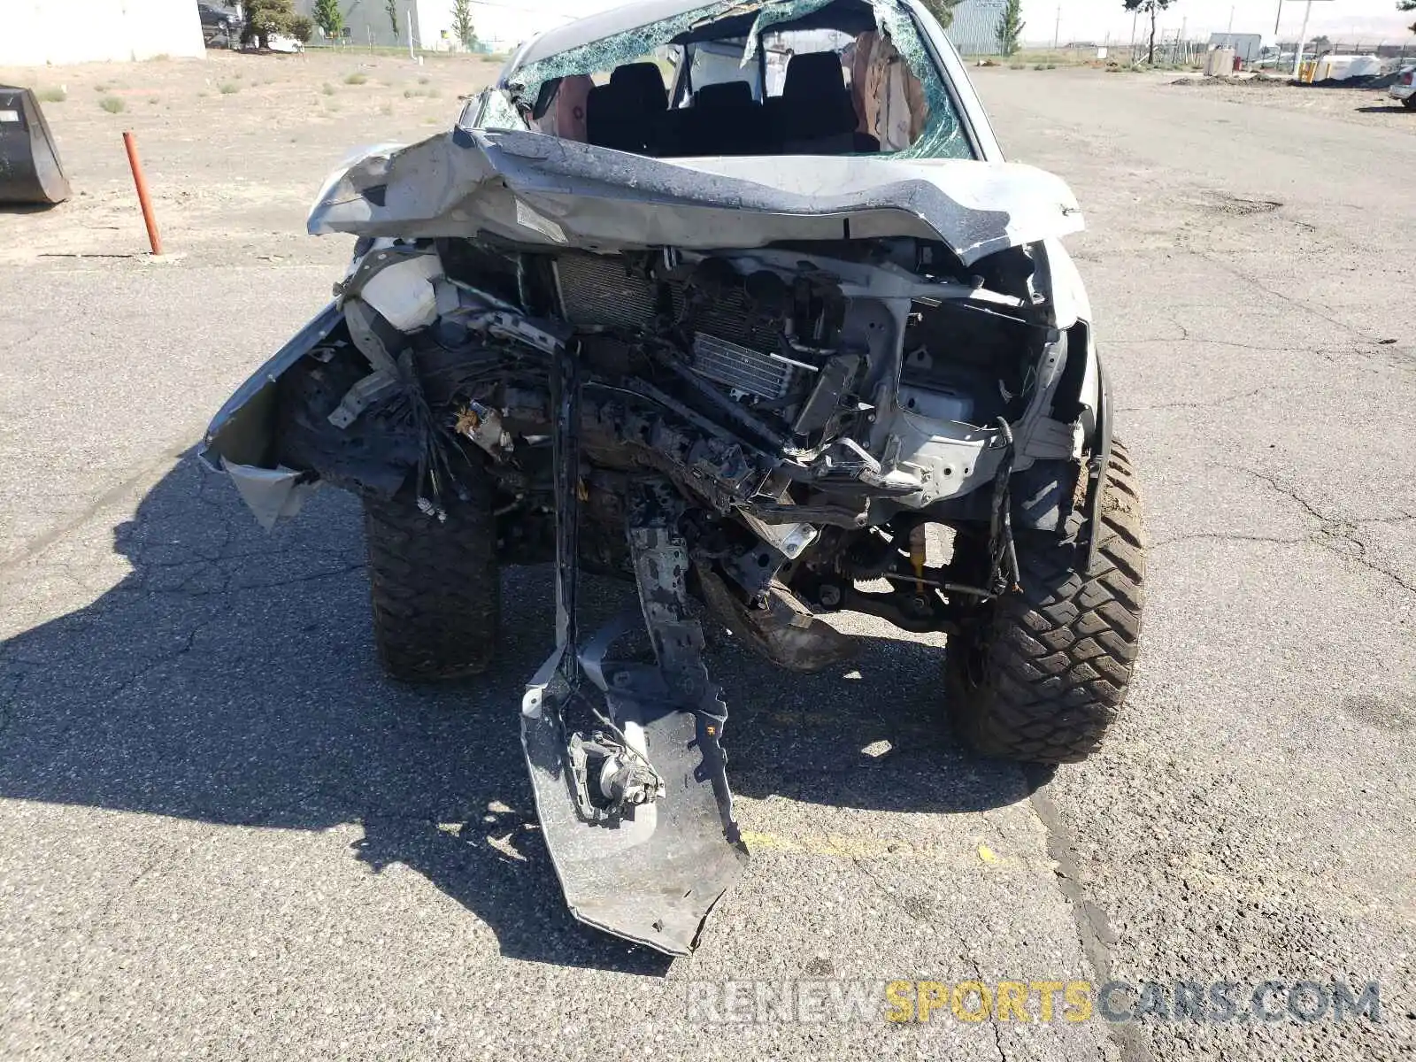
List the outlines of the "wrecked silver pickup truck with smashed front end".
<svg viewBox="0 0 1416 1062">
<path fill-rule="evenodd" d="M 704 623 L 789 671 L 850 657 L 823 613 L 944 632 L 987 756 L 1114 719 L 1143 539 L 1080 227 L 916 0 L 641 0 L 327 181 L 310 232 L 354 259 L 204 459 L 266 524 L 361 498 L 395 678 L 483 673 L 500 566 L 554 564 L 547 847 L 576 918 L 685 954 L 746 860 Z M 582 572 L 636 603 L 581 632 Z"/>
</svg>

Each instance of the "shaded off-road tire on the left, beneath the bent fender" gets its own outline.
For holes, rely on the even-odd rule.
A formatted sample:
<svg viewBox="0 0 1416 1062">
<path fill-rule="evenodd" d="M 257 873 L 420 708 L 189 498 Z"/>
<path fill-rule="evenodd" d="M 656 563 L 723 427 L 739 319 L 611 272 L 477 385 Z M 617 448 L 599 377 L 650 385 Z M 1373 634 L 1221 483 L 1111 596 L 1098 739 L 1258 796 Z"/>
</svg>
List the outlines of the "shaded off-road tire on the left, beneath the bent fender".
<svg viewBox="0 0 1416 1062">
<path fill-rule="evenodd" d="M 394 678 L 466 678 L 491 664 L 501 613 L 493 491 L 463 486 L 472 497 L 449 506 L 446 521 L 406 491 L 364 497 L 374 643 Z"/>
</svg>

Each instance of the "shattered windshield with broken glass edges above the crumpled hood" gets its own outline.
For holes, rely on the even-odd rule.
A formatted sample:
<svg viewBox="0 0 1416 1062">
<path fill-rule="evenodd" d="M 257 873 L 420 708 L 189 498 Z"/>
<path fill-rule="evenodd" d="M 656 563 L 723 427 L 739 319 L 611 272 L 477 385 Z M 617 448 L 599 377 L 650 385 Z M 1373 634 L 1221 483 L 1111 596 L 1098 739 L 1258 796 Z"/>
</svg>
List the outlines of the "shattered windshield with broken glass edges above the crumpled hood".
<svg viewBox="0 0 1416 1062">
<path fill-rule="evenodd" d="M 896 0 L 718 0 L 544 55 L 506 85 L 480 127 L 656 157 L 973 157 Z"/>
</svg>

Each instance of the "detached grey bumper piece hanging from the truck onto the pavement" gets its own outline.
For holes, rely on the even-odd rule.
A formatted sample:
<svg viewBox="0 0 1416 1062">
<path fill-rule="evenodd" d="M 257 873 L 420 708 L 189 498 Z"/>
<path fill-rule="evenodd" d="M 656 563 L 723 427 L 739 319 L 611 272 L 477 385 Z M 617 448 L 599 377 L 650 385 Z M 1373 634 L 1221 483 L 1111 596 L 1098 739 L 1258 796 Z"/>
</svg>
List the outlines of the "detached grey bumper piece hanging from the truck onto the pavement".
<svg viewBox="0 0 1416 1062">
<path fill-rule="evenodd" d="M 637 481 L 630 498 L 640 607 L 579 641 L 576 370 L 572 351 L 556 355 L 556 649 L 527 687 L 521 741 L 571 913 L 683 956 L 748 860 L 719 743 L 728 711 L 688 613 L 684 503 L 666 480 Z M 654 664 L 612 657 L 641 632 Z"/>
</svg>

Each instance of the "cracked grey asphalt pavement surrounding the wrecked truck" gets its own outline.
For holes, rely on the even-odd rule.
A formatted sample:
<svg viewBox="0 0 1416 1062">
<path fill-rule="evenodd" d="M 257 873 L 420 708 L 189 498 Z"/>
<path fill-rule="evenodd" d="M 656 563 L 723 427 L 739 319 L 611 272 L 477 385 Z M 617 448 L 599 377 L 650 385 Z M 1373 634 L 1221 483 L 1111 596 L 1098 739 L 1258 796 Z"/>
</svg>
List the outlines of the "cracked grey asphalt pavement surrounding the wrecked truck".
<svg viewBox="0 0 1416 1062">
<path fill-rule="evenodd" d="M 358 119 L 276 152 L 143 118 L 201 207 L 169 201 L 184 256 L 146 263 L 75 256 L 139 231 L 109 126 L 51 113 L 98 205 L 0 215 L 0 1056 L 1412 1056 L 1416 137 L 977 74 L 1011 157 L 1087 215 L 1151 539 L 1127 708 L 1048 776 L 954 745 L 942 639 L 844 616 L 858 667 L 806 678 L 715 649 L 753 858 L 673 963 L 576 926 L 535 830 L 515 705 L 547 572 L 506 576 L 483 685 L 394 685 L 355 507 L 266 535 L 191 459 L 341 268 L 295 234 Z M 722 978 L 1378 981 L 1383 1020 L 691 1012 Z"/>
</svg>

